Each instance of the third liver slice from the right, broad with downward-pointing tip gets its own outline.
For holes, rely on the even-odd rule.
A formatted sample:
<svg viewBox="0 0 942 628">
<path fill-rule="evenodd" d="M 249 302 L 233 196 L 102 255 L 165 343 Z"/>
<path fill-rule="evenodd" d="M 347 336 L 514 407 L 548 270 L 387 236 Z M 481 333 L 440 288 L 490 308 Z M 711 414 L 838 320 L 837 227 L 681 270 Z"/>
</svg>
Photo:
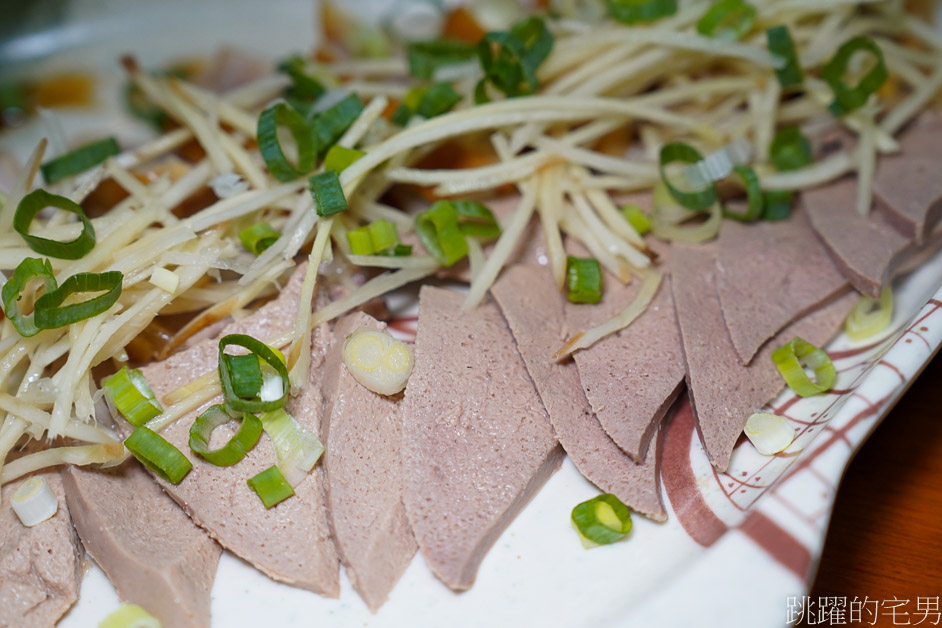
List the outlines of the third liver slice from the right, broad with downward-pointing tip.
<svg viewBox="0 0 942 628">
<path fill-rule="evenodd" d="M 716 288 L 743 364 L 780 329 L 847 287 L 804 212 L 790 220 L 723 223 Z"/>
</svg>

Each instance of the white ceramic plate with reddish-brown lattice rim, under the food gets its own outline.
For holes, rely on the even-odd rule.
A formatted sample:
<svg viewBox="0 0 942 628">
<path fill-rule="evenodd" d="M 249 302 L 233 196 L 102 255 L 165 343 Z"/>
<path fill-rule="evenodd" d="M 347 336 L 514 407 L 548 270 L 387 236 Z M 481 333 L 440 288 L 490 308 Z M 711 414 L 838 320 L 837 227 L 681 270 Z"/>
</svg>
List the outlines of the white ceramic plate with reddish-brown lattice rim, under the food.
<svg viewBox="0 0 942 628">
<path fill-rule="evenodd" d="M 381 2 L 370 2 L 383 6 Z M 264 5 L 264 6 L 263 6 Z M 65 3 L 63 21 L 0 44 L 0 67 L 50 73 L 99 72 L 100 107 L 59 116 L 65 133 L 118 134 L 141 129 L 116 122 L 117 57 L 133 51 L 156 66 L 187 53 L 239 42 L 278 58 L 309 50 L 308 2 Z M 388 5 L 386 5 L 388 6 Z M 263 24 L 260 28 L 258 25 Z M 43 133 L 38 124 L 0 136 L 20 159 Z M 586 551 L 569 525 L 572 506 L 597 494 L 566 462 L 485 558 L 474 588 L 460 595 L 438 582 L 417 556 L 376 615 L 343 581 L 339 600 L 277 584 L 229 553 L 213 589 L 218 626 L 576 627 L 781 626 L 788 596 L 807 592 L 824 542 L 838 482 L 848 461 L 942 343 L 942 254 L 894 286 L 892 332 L 829 351 L 836 392 L 810 399 L 784 393 L 770 407 L 798 437 L 773 458 L 741 442 L 727 473 L 709 464 L 689 406 L 667 431 L 662 475 L 669 520 L 635 517 L 627 542 Z M 91 565 L 64 628 L 94 626 L 119 604 Z"/>
</svg>

